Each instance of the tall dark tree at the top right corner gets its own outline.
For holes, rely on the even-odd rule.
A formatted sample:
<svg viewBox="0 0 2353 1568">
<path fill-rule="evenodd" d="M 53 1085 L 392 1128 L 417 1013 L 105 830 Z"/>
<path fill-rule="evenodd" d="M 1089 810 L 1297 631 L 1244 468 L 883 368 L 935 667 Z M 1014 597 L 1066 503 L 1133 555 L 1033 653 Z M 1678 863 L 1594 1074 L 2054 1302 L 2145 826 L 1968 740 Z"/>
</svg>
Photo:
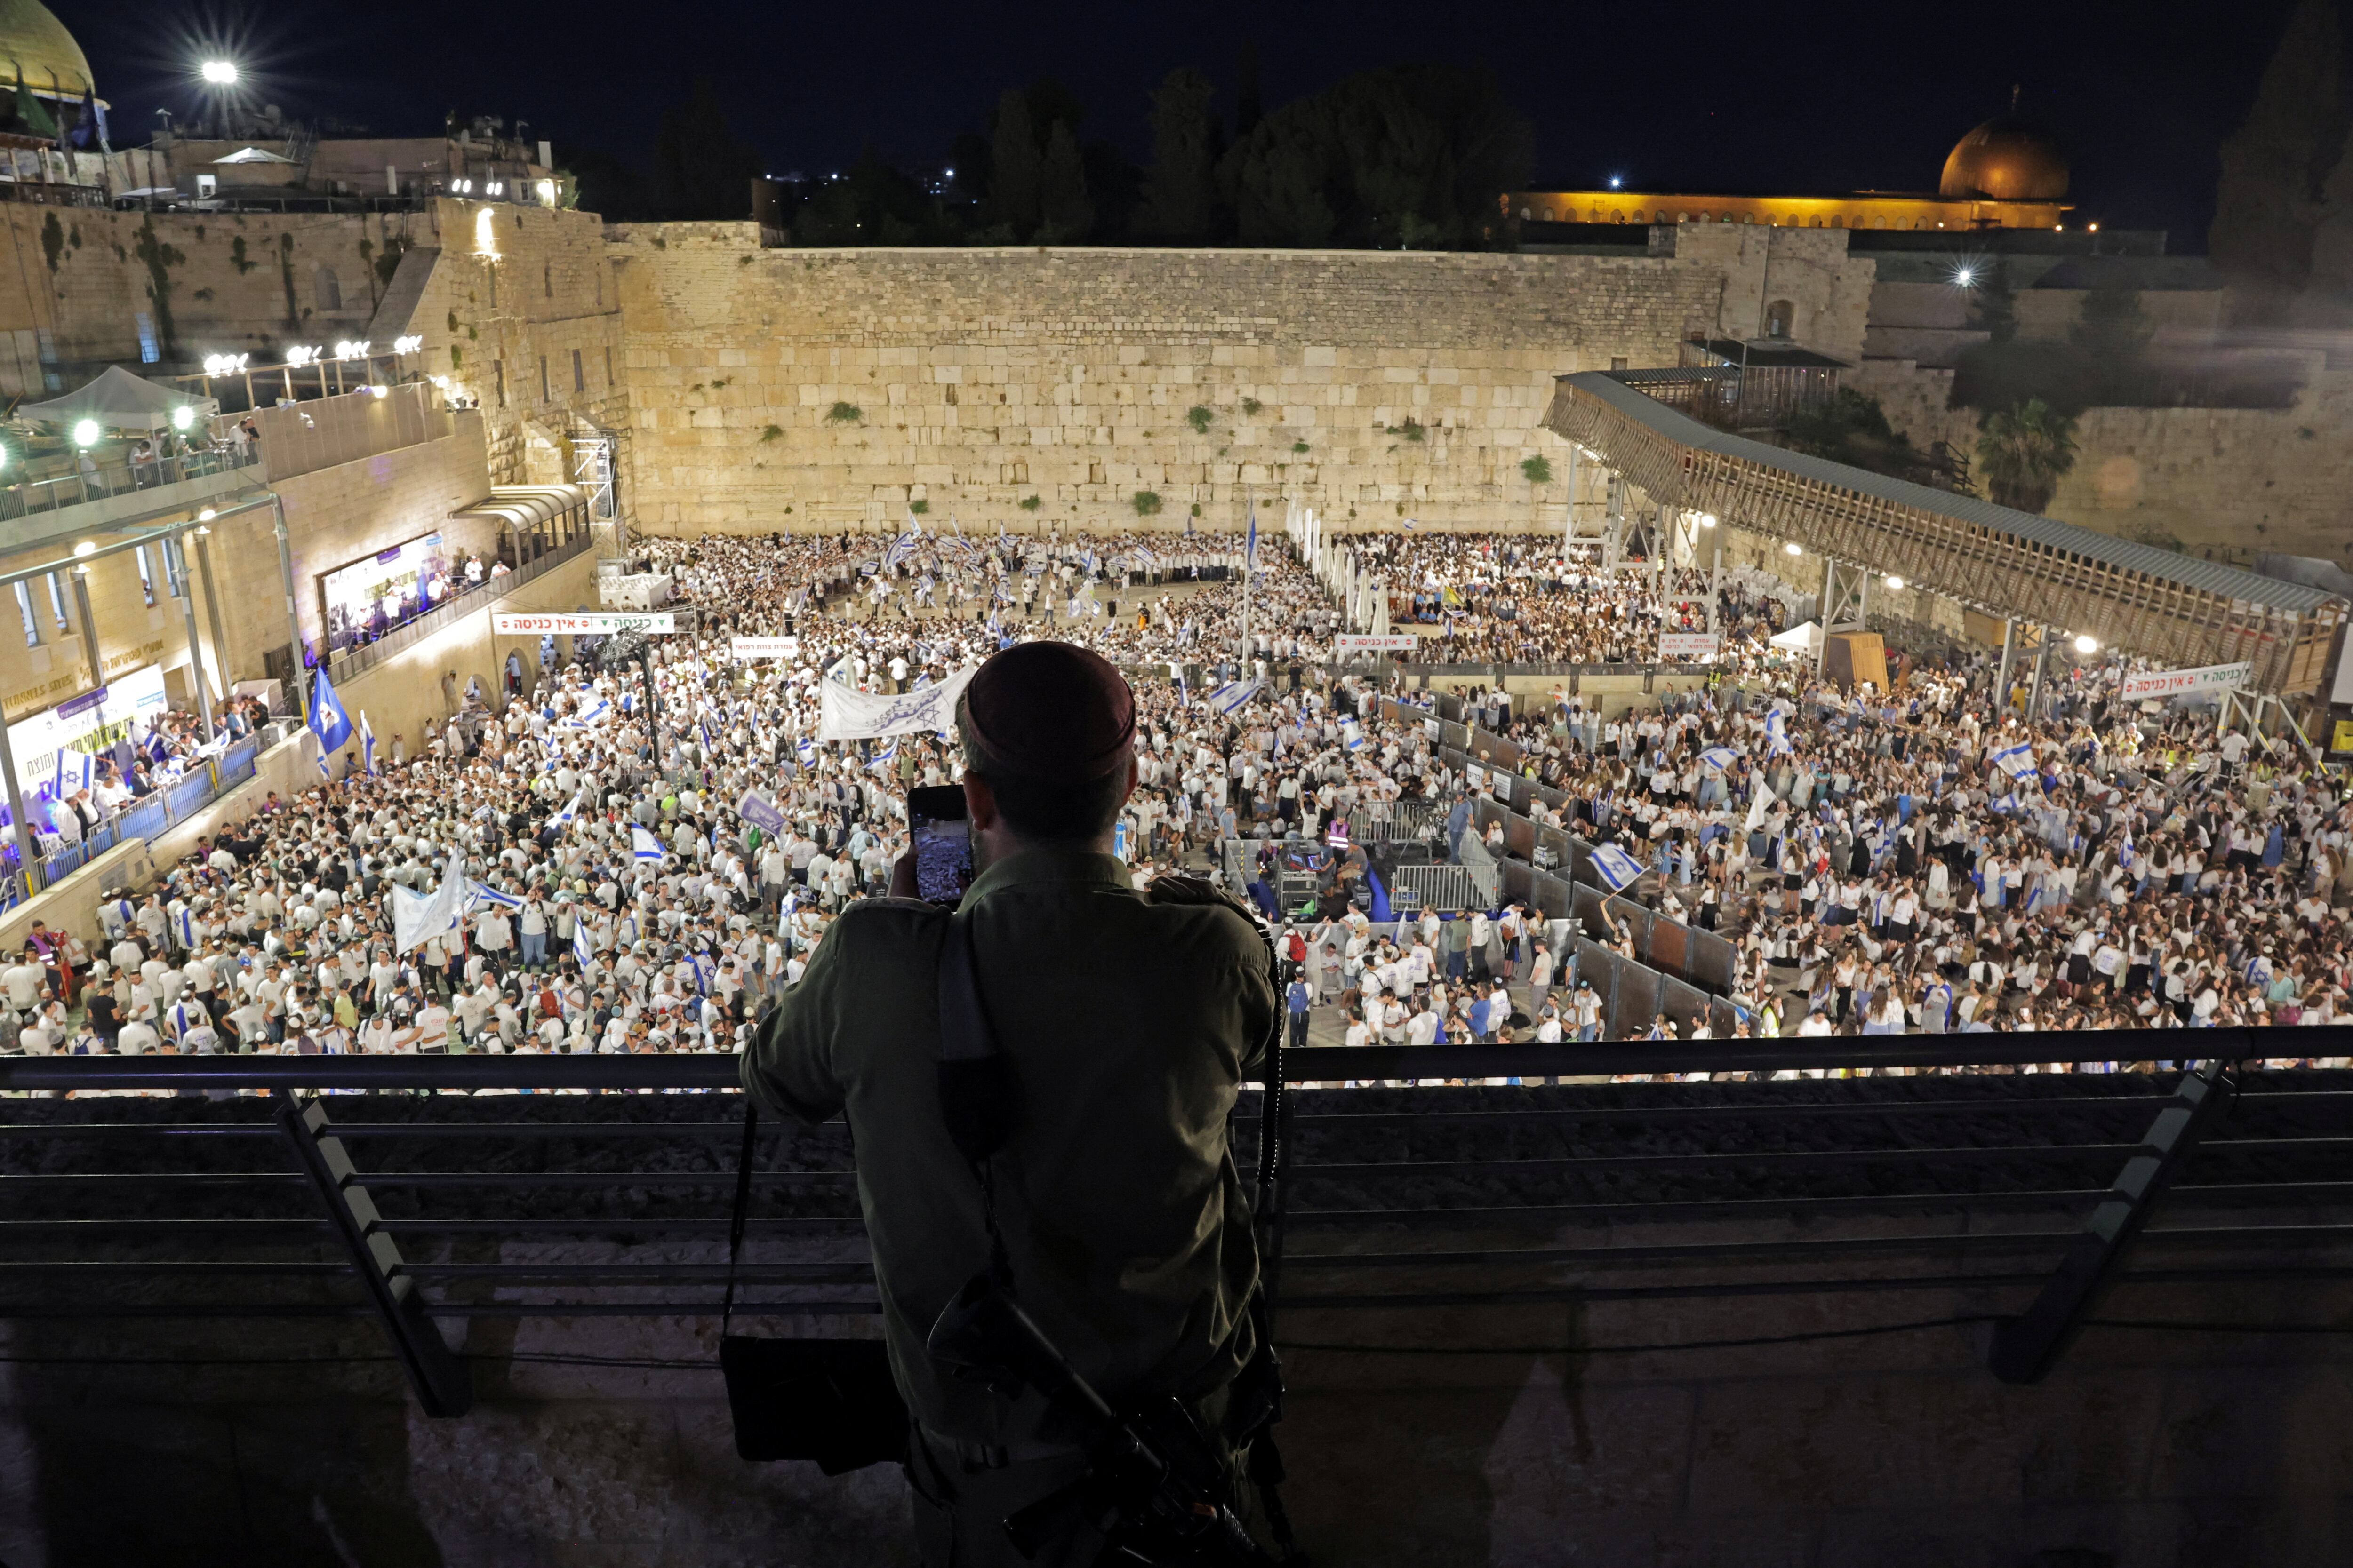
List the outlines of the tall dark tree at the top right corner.
<svg viewBox="0 0 2353 1568">
<path fill-rule="evenodd" d="M 2207 252 L 2217 270 L 2278 294 L 2313 268 L 2322 181 L 2346 150 L 2337 0 L 2301 0 L 2264 71 L 2247 122 L 2221 143 Z"/>
</svg>

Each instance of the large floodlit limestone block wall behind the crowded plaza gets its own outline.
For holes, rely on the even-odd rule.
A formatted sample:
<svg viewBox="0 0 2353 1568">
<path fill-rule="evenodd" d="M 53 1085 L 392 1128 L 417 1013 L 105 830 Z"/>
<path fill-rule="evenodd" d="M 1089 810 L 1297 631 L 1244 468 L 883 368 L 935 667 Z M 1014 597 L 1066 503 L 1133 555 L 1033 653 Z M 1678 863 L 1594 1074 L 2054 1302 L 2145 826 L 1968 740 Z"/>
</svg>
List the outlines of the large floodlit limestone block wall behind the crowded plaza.
<svg viewBox="0 0 2353 1568">
<path fill-rule="evenodd" d="M 628 496 L 666 534 L 911 508 L 965 529 L 1238 527 L 1252 496 L 1341 529 L 1558 517 L 1553 376 L 1675 364 L 1687 334 L 1781 299 L 1800 341 L 1852 357 L 1871 280 L 1842 233 L 1737 226 L 1624 259 L 609 235 Z M 1551 484 L 1522 477 L 1532 456 Z"/>
</svg>

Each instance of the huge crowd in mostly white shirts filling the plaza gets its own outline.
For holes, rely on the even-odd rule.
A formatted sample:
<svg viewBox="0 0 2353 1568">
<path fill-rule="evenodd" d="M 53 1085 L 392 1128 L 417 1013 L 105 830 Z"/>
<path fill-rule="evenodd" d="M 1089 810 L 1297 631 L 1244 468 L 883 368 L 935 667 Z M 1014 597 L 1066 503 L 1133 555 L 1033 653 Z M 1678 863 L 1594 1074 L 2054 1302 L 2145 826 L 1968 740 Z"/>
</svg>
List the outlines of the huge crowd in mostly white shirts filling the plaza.
<svg viewBox="0 0 2353 1568">
<path fill-rule="evenodd" d="M 1581 943 L 1645 961 L 1631 929 L 1508 903 L 1386 907 L 1384 839 L 1438 860 L 1511 853 L 1499 823 L 1473 825 L 1511 773 L 1541 825 L 1642 867 L 1628 898 L 1734 945 L 1725 999 L 1744 1034 L 2353 1011 L 2341 776 L 2214 710 L 2127 703 L 2115 663 L 2068 670 L 2033 719 L 1995 691 L 1991 656 L 1899 661 L 1897 691 L 1847 693 L 1767 651 L 1781 609 L 1734 583 L 1715 607 L 1741 651 L 1725 679 L 1633 705 L 1482 691 L 1466 717 L 1511 757 L 1461 766 L 1414 708 L 1428 693 L 1384 703 L 1372 675 L 1327 668 L 1337 609 L 1271 541 L 1247 588 L 1233 534 L 911 529 L 640 552 L 673 574 L 692 632 L 581 642 L 569 663 L 544 649 L 525 689 L 468 691 L 414 755 L 384 748 L 379 771 L 351 748 L 332 783 L 271 795 L 158 886 L 111 898 L 96 929 L 33 926 L 0 969 L 0 1041 L 739 1048 L 838 912 L 887 886 L 906 790 L 958 769 L 946 736 L 819 741 L 826 682 L 911 691 L 1014 637 L 1087 642 L 1129 672 L 1122 853 L 1139 877 L 1205 872 L 1268 905 L 1301 1041 L 1602 1034 Z M 1520 538 L 1407 536 L 1388 552 L 1400 618 L 1452 616 L 1438 637 L 1471 637 L 1480 658 L 1640 656 L 1661 628 L 1708 618 L 1706 578 L 1569 569 Z M 791 642 L 739 661 L 734 637 Z M 167 750 L 188 738 L 184 722 L 162 733 Z M 1301 877 L 1268 875 L 1278 860 Z M 445 889 L 459 924 L 405 945 L 402 912 Z M 1619 1034 L 1689 1027 L 1617 1018 Z"/>
</svg>

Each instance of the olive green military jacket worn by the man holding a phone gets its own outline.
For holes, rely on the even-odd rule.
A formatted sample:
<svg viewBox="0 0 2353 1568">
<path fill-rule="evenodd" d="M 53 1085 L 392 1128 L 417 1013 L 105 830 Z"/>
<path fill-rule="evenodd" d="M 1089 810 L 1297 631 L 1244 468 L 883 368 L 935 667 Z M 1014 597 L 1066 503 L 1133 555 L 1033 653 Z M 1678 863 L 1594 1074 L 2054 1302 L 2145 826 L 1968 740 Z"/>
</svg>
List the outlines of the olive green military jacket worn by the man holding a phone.
<svg viewBox="0 0 2353 1568">
<path fill-rule="evenodd" d="M 1226 1114 L 1280 1001 L 1266 947 L 1200 884 L 1136 891 L 1113 856 L 1026 851 L 965 896 L 972 959 L 1012 1063 L 1016 1126 L 993 1159 L 1014 1291 L 1101 1392 L 1205 1394 L 1254 1349 L 1259 1279 Z M 807 1121 L 849 1112 L 885 1335 L 915 1418 L 953 1439 L 1054 1439 L 925 1354 L 988 1265 L 981 1187 L 939 1112 L 948 914 L 852 905 L 744 1056 L 744 1086 Z"/>
</svg>

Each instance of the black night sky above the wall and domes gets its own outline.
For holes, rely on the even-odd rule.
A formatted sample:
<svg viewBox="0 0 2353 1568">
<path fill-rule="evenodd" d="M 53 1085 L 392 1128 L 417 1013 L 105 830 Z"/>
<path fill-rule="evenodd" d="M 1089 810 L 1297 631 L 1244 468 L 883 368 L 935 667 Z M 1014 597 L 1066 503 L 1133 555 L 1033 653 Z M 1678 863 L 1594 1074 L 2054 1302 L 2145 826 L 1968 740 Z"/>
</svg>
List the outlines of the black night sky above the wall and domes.
<svg viewBox="0 0 2353 1568">
<path fill-rule="evenodd" d="M 1195 66 L 1233 108 L 1245 38 L 1266 106 L 1351 71 L 1485 63 L 1537 129 L 1539 183 L 1725 193 L 1932 190 L 1951 143 L 2012 82 L 2057 127 L 2078 219 L 2169 228 L 2205 249 L 2217 146 L 2247 113 L 2289 0 L 2064 5 L 718 5 L 652 0 L 273 0 L 179 31 L 151 0 L 56 2 L 82 40 L 115 141 L 195 99 L 200 38 L 296 115 L 421 134 L 445 110 L 529 120 L 529 136 L 642 160 L 661 106 L 718 82 L 772 169 L 824 174 L 868 143 L 936 165 L 998 92 L 1054 75 L 1085 139 L 1148 150 L 1146 94 Z M 1475 21 L 1475 26 L 1471 26 Z M 212 45 L 219 47 L 219 45 Z"/>
</svg>

